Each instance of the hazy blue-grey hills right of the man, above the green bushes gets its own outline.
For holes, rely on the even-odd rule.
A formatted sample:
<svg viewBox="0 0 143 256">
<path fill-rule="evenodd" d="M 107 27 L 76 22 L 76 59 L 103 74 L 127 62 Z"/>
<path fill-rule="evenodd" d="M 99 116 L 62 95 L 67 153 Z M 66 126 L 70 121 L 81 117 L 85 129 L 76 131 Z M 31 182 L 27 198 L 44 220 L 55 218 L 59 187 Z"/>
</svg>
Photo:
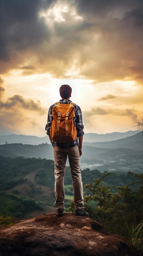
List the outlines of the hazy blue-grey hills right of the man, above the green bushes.
<svg viewBox="0 0 143 256">
<path fill-rule="evenodd" d="M 83 143 L 81 168 L 143 173 L 143 133 L 108 142 Z"/>
</svg>

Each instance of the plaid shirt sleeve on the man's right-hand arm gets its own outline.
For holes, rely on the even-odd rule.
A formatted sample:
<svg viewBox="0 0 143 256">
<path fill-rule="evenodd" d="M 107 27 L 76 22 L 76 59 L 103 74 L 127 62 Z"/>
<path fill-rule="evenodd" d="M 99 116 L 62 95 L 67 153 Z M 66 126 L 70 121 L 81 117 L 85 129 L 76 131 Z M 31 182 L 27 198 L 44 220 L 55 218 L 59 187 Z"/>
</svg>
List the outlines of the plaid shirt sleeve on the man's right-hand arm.
<svg viewBox="0 0 143 256">
<path fill-rule="evenodd" d="M 84 135 L 84 125 L 82 122 L 82 112 L 78 105 L 75 105 L 75 124 L 77 128 L 77 137 Z"/>
</svg>

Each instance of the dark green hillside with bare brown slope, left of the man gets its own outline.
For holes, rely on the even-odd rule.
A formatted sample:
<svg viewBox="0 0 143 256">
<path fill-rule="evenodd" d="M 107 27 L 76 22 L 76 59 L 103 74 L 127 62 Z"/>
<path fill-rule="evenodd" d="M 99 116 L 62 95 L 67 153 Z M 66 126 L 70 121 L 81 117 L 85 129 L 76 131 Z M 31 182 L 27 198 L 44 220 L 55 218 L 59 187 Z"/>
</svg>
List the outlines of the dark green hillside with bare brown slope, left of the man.
<svg viewBox="0 0 143 256">
<path fill-rule="evenodd" d="M 29 218 L 55 210 L 53 169 L 52 160 L 0 157 L 0 213 Z"/>
</svg>

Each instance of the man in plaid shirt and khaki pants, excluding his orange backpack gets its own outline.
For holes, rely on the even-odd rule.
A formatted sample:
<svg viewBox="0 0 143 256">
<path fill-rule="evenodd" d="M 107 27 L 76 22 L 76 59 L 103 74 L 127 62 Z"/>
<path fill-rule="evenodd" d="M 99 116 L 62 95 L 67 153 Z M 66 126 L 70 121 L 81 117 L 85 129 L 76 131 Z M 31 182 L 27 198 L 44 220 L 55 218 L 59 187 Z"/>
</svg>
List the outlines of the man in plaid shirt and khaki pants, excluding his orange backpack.
<svg viewBox="0 0 143 256">
<path fill-rule="evenodd" d="M 70 103 L 72 89 L 69 85 L 62 85 L 59 89 L 62 99 L 59 103 Z M 64 99 L 66 101 L 64 101 Z M 68 100 L 68 101 L 67 101 Z M 75 104 L 75 125 L 77 129 L 77 138 L 73 142 L 62 143 L 52 141 L 50 136 L 50 127 L 52 121 L 53 104 L 48 111 L 48 122 L 46 124 L 47 135 L 49 135 L 51 144 L 54 148 L 55 157 L 55 207 L 56 215 L 63 216 L 64 212 L 64 175 L 66 168 L 66 159 L 68 156 L 70 171 L 73 179 L 73 191 L 74 191 L 74 203 L 75 203 L 75 215 L 89 216 L 88 212 L 84 209 L 84 196 L 83 196 L 83 184 L 80 171 L 80 159 L 82 155 L 82 140 L 83 140 L 83 123 L 82 113 L 80 107 Z"/>
</svg>

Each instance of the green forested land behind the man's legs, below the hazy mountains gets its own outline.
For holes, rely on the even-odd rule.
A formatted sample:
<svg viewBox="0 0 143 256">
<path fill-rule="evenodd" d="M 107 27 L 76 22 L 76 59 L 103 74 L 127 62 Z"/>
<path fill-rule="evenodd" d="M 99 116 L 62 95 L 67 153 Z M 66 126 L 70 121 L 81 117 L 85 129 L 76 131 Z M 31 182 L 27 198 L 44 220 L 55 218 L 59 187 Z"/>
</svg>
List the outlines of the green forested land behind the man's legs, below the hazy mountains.
<svg viewBox="0 0 143 256">
<path fill-rule="evenodd" d="M 81 170 L 85 207 L 110 234 L 143 250 L 143 174 Z M 54 209 L 54 161 L 0 156 L 0 227 Z M 65 211 L 74 213 L 70 168 L 65 174 Z"/>
</svg>

